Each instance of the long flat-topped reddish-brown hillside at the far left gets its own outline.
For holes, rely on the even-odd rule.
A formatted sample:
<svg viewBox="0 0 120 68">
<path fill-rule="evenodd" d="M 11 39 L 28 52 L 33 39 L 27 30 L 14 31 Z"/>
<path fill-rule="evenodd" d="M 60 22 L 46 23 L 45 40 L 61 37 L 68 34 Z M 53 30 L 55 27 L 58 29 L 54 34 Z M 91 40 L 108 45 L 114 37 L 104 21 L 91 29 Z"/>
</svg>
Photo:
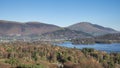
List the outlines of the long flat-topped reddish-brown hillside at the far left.
<svg viewBox="0 0 120 68">
<path fill-rule="evenodd" d="M 14 22 L 14 21 L 4 21 L 0 20 L 0 34 L 6 35 L 29 35 L 29 34 L 43 34 L 46 32 L 52 32 L 58 30 L 60 27 L 44 24 L 40 22 Z"/>
</svg>

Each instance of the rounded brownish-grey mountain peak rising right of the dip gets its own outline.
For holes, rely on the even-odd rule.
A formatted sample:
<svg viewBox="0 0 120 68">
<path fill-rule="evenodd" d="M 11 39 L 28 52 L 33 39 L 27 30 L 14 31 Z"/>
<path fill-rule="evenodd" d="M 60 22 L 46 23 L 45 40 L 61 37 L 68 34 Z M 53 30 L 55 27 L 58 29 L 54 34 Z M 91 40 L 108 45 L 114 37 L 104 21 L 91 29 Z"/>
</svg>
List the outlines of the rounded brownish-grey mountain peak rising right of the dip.
<svg viewBox="0 0 120 68">
<path fill-rule="evenodd" d="M 90 22 L 79 22 L 69 26 L 68 29 L 86 32 L 93 36 L 117 32 L 112 28 L 103 27 L 97 24 L 92 24 Z"/>
</svg>

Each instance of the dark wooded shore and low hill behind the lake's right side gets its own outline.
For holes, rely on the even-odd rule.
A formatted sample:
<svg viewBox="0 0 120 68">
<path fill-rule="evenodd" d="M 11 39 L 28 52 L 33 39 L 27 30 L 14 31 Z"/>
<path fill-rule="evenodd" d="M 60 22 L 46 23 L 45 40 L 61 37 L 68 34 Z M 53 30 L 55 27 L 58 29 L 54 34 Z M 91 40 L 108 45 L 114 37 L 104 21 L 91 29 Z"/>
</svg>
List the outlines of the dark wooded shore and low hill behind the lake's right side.
<svg viewBox="0 0 120 68">
<path fill-rule="evenodd" d="M 106 34 L 93 38 L 77 38 L 71 41 L 73 44 L 120 43 L 120 33 Z"/>
</svg>

